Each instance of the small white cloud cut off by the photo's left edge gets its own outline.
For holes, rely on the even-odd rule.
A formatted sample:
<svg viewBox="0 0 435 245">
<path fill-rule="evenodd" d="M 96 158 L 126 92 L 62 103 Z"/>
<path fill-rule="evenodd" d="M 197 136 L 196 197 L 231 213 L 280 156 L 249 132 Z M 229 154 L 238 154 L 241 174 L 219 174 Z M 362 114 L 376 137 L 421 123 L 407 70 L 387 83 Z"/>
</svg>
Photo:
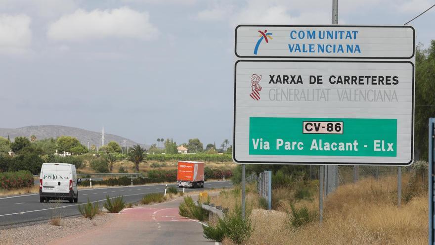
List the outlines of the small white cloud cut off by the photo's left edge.
<svg viewBox="0 0 435 245">
<path fill-rule="evenodd" d="M 24 52 L 32 41 L 31 19 L 24 14 L 0 15 L 0 51 L 3 53 Z"/>
</svg>

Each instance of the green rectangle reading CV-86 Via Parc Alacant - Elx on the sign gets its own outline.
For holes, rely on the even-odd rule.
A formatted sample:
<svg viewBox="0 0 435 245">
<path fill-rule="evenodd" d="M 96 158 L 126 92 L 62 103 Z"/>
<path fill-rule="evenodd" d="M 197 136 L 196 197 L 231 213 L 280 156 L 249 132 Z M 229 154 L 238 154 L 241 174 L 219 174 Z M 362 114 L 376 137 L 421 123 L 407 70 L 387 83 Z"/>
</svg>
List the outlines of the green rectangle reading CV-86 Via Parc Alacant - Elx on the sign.
<svg viewBox="0 0 435 245">
<path fill-rule="evenodd" d="M 250 155 L 397 156 L 397 119 L 249 118 Z"/>
</svg>

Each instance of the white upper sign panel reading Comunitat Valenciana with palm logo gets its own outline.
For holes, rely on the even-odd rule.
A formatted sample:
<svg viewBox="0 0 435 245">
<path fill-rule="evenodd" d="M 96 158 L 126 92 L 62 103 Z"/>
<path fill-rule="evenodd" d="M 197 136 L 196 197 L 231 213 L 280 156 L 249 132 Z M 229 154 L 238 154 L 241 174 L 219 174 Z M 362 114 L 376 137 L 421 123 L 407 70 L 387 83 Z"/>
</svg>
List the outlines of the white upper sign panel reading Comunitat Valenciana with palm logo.
<svg viewBox="0 0 435 245">
<path fill-rule="evenodd" d="M 411 26 L 239 25 L 241 58 L 383 58 L 414 56 Z"/>
</svg>

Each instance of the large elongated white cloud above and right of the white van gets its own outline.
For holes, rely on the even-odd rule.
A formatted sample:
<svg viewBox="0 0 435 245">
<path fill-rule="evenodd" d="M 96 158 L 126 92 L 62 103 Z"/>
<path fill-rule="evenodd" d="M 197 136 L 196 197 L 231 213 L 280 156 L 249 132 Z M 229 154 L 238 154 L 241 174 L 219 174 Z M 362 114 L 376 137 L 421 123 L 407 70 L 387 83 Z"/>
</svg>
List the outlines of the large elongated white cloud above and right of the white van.
<svg viewBox="0 0 435 245">
<path fill-rule="evenodd" d="M 78 9 L 48 26 L 47 37 L 53 41 L 83 42 L 104 38 L 153 40 L 158 29 L 149 21 L 148 12 L 129 7 L 87 12 Z"/>
</svg>

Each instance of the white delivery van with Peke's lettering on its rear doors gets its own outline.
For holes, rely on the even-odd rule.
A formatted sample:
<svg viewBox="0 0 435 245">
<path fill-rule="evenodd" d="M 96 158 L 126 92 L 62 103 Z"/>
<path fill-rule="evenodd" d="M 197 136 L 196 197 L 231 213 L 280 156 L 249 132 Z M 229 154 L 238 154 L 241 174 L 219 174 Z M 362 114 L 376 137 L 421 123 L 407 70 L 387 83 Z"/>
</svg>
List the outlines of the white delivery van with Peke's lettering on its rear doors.
<svg viewBox="0 0 435 245">
<path fill-rule="evenodd" d="M 40 201 L 66 199 L 77 202 L 79 190 L 76 166 L 69 163 L 43 163 L 39 179 Z"/>
</svg>

